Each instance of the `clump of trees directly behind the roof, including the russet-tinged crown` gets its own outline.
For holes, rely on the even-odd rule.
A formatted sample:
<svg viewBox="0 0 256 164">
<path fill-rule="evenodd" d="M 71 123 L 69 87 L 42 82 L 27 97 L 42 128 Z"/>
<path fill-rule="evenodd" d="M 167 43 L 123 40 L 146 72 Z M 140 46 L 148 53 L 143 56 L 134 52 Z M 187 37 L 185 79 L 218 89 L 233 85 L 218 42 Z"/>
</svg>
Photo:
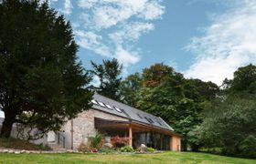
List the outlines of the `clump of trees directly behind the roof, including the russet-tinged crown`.
<svg viewBox="0 0 256 164">
<path fill-rule="evenodd" d="M 126 77 L 121 83 L 123 102 L 165 119 L 183 135 L 182 148 L 187 149 L 187 133 L 202 121 L 204 103 L 219 93 L 219 87 L 199 79 L 186 79 L 163 63 L 144 68 L 143 73 Z"/>
</svg>

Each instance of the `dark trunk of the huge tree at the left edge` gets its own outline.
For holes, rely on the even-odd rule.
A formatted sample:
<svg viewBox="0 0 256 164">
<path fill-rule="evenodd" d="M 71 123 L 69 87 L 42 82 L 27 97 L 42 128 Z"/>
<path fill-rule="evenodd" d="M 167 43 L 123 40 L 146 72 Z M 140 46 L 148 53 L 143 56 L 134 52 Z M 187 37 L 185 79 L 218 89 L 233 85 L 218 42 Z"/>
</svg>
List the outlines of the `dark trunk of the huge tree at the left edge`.
<svg viewBox="0 0 256 164">
<path fill-rule="evenodd" d="M 0 137 L 10 138 L 15 118 L 16 116 L 12 112 L 5 111 L 5 120 L 2 125 Z"/>
</svg>

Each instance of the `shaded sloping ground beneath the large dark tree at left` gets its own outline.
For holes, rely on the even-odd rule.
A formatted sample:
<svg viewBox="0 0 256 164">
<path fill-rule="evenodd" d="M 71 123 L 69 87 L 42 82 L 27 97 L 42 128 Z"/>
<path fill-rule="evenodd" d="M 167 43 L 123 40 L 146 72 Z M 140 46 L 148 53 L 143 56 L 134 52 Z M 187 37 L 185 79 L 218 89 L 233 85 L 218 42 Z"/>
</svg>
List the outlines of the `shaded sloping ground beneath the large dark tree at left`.
<svg viewBox="0 0 256 164">
<path fill-rule="evenodd" d="M 42 145 L 36 145 L 17 138 L 0 138 L 0 149 L 28 149 L 28 150 L 50 150 Z"/>
</svg>

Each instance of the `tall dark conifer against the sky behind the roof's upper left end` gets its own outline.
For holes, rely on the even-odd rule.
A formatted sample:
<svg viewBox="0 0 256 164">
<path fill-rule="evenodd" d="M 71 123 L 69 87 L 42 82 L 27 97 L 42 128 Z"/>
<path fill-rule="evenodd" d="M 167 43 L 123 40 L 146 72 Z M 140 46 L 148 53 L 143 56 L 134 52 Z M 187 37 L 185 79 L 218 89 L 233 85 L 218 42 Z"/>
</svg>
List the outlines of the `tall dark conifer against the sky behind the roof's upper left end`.
<svg viewBox="0 0 256 164">
<path fill-rule="evenodd" d="M 102 64 L 99 65 L 91 61 L 91 66 L 91 72 L 100 79 L 100 87 L 95 87 L 96 91 L 105 97 L 120 100 L 118 92 L 122 80 L 123 66 L 115 58 L 102 60 Z"/>
</svg>

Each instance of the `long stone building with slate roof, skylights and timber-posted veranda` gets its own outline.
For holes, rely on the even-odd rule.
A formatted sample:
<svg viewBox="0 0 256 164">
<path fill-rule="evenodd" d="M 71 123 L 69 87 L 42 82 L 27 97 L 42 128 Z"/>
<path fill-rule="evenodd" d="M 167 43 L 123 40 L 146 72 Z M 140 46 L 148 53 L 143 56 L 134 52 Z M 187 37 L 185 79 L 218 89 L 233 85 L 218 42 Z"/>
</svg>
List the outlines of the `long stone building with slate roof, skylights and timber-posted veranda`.
<svg viewBox="0 0 256 164">
<path fill-rule="evenodd" d="M 99 131 L 106 138 L 127 137 L 133 148 L 144 144 L 159 150 L 180 151 L 181 136 L 162 118 L 99 94 L 94 94 L 91 102 L 93 105 L 89 110 L 69 120 L 58 133 L 48 132 L 45 138 L 35 142 L 53 149 L 78 149 L 81 142 L 86 142 Z M 0 125 L 2 121 L 0 118 Z"/>
</svg>

